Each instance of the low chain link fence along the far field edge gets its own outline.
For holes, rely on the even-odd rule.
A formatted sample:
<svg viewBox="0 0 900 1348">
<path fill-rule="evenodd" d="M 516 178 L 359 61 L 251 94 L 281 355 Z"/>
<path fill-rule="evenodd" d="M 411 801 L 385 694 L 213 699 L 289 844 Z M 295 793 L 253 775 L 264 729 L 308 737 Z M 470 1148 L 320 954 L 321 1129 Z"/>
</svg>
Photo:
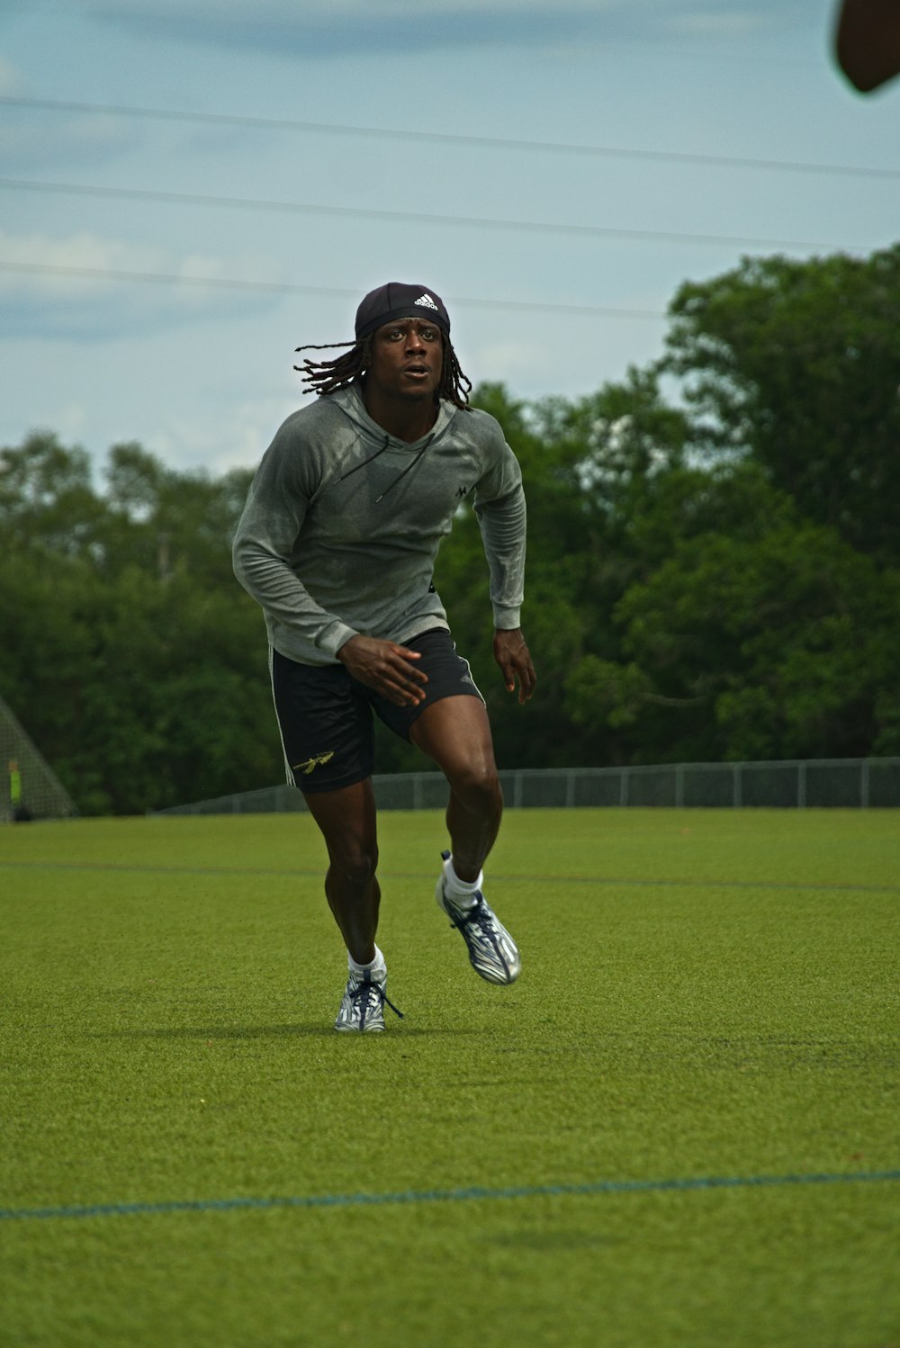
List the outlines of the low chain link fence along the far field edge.
<svg viewBox="0 0 900 1348">
<path fill-rule="evenodd" d="M 381 810 L 438 810 L 441 772 L 372 779 Z M 519 768 L 501 771 L 507 806 L 664 806 L 668 809 L 895 809 L 900 758 L 799 759 L 783 763 L 666 763 L 657 767 Z M 271 814 L 306 810 L 292 786 L 222 795 L 159 814 Z"/>
</svg>

